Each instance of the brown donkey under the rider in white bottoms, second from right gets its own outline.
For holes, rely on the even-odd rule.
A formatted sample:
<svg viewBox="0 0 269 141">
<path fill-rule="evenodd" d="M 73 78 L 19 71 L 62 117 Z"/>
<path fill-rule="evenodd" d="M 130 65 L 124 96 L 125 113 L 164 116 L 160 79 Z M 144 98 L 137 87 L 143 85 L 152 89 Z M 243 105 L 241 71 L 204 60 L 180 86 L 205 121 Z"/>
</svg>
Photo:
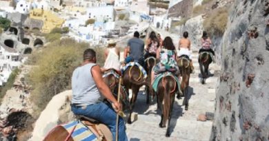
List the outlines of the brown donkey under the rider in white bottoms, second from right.
<svg viewBox="0 0 269 141">
<path fill-rule="evenodd" d="M 190 60 L 184 56 L 179 57 L 177 59 L 177 65 L 179 65 L 180 74 L 182 76 L 180 89 L 184 96 L 183 105 L 185 105 L 185 110 L 188 110 L 188 87 L 190 82 L 190 72 L 192 71 L 190 66 Z M 178 94 L 177 98 L 179 97 L 180 96 Z"/>
</svg>

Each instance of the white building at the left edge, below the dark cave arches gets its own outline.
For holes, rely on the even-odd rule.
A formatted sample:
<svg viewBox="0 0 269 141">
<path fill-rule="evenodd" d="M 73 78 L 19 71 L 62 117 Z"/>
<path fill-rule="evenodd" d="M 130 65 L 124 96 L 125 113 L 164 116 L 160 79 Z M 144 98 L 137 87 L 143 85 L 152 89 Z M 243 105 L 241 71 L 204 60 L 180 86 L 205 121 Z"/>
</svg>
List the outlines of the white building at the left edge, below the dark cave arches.
<svg viewBox="0 0 269 141">
<path fill-rule="evenodd" d="M 12 70 L 19 65 L 21 65 L 19 53 L 5 45 L 0 45 L 0 86 L 8 81 Z"/>
</svg>

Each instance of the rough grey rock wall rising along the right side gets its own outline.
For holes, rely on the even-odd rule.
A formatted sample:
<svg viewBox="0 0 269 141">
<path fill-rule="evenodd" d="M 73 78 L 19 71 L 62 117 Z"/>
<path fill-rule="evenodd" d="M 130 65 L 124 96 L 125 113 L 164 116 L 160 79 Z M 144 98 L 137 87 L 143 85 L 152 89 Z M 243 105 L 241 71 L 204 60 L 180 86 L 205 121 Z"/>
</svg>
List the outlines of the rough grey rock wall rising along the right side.
<svg viewBox="0 0 269 141">
<path fill-rule="evenodd" d="M 269 140 L 269 1 L 237 0 L 221 43 L 211 140 Z"/>
</svg>

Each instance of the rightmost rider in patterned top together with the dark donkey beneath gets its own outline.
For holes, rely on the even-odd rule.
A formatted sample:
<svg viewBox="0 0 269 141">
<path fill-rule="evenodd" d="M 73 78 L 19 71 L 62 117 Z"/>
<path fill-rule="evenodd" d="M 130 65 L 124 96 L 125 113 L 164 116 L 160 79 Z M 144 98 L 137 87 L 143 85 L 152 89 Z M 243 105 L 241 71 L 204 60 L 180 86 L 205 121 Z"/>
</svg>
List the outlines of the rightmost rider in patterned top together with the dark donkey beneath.
<svg viewBox="0 0 269 141">
<path fill-rule="evenodd" d="M 215 52 L 210 48 L 212 42 L 206 31 L 203 31 L 203 36 L 201 38 L 201 49 L 199 50 L 199 66 L 202 75 L 202 83 L 205 83 L 208 77 L 208 67 L 212 61 L 215 61 Z"/>
</svg>

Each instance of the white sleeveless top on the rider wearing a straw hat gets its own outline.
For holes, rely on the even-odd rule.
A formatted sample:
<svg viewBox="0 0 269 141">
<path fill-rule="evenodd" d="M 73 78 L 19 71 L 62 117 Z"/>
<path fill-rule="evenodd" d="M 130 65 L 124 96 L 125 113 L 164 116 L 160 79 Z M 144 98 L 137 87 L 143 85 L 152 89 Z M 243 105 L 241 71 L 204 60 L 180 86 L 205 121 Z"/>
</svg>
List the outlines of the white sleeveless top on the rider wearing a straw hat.
<svg viewBox="0 0 269 141">
<path fill-rule="evenodd" d="M 106 58 L 103 68 L 121 70 L 121 63 L 119 62 L 119 56 L 116 53 L 116 48 L 108 48 L 108 50 L 108 57 Z"/>
</svg>

